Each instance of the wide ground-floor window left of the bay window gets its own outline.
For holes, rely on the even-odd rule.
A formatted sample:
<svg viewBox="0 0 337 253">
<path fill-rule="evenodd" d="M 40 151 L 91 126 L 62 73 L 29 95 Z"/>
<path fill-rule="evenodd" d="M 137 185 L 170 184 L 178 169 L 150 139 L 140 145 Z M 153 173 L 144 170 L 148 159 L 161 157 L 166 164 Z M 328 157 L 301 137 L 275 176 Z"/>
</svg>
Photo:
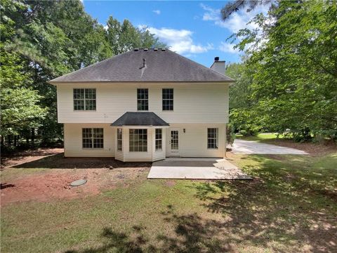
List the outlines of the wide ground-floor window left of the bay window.
<svg viewBox="0 0 337 253">
<path fill-rule="evenodd" d="M 82 148 L 104 148 L 102 128 L 82 129 Z"/>
</svg>

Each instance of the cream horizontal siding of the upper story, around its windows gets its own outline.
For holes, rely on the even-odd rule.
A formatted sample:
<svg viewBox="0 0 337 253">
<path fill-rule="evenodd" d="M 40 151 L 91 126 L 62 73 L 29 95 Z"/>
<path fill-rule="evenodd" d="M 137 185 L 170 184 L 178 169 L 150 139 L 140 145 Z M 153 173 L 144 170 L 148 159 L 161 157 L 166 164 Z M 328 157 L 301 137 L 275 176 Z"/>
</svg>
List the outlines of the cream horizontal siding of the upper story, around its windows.
<svg viewBox="0 0 337 253">
<path fill-rule="evenodd" d="M 136 92 L 142 84 L 58 84 L 58 122 L 112 123 L 137 111 Z M 174 111 L 162 110 L 162 89 L 174 86 Z M 96 110 L 73 110 L 72 90 L 96 89 Z M 228 84 L 147 84 L 151 112 L 172 123 L 227 123 Z"/>
</svg>

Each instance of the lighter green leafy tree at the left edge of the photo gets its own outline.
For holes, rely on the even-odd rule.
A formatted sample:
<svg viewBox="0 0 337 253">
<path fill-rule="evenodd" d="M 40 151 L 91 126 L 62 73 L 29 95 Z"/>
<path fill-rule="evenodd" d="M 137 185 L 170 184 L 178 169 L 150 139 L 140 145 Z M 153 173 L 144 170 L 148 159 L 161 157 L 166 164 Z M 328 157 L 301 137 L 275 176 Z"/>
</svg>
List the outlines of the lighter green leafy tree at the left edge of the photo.
<svg viewBox="0 0 337 253">
<path fill-rule="evenodd" d="M 37 91 L 29 87 L 29 74 L 23 72 L 15 53 L 1 50 L 1 138 L 41 126 L 46 108 L 41 108 Z"/>
</svg>

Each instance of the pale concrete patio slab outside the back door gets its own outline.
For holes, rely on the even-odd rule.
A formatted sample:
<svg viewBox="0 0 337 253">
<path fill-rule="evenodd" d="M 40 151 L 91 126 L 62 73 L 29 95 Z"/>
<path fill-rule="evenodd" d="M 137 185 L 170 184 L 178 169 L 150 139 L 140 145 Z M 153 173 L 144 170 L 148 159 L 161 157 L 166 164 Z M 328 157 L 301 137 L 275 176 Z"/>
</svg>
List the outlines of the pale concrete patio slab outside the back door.
<svg viewBox="0 0 337 253">
<path fill-rule="evenodd" d="M 147 179 L 251 179 L 224 159 L 167 158 L 153 162 Z"/>
</svg>

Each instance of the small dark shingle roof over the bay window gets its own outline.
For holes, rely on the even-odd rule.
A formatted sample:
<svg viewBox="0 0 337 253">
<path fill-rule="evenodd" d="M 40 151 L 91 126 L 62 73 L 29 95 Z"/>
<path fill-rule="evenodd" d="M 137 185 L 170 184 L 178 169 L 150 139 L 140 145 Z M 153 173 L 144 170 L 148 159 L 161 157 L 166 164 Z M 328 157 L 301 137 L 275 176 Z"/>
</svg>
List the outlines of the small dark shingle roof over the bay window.
<svg viewBox="0 0 337 253">
<path fill-rule="evenodd" d="M 154 112 L 125 112 L 111 126 L 169 126 Z"/>
</svg>

